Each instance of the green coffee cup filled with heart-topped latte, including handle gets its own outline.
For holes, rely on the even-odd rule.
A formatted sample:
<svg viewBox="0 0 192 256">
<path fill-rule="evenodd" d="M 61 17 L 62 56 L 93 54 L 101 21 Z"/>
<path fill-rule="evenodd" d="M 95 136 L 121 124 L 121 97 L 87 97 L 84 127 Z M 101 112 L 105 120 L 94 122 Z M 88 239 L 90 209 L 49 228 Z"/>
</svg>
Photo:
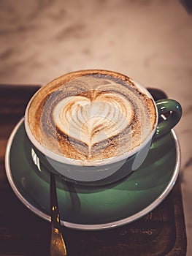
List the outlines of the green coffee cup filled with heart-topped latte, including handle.
<svg viewBox="0 0 192 256">
<path fill-rule="evenodd" d="M 160 121 L 160 116 L 169 118 Z M 41 165 L 77 184 L 103 185 L 128 176 L 153 140 L 180 121 L 174 99 L 155 102 L 149 91 L 118 72 L 70 72 L 28 102 L 25 129 Z"/>
</svg>

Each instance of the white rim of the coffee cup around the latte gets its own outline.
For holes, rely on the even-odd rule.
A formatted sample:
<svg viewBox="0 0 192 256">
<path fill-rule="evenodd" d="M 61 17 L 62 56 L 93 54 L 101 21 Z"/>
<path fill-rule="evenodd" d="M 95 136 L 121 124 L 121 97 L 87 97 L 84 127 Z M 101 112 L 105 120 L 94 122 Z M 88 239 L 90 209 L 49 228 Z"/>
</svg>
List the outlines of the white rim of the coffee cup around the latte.
<svg viewBox="0 0 192 256">
<path fill-rule="evenodd" d="M 41 89 L 43 89 L 45 86 L 47 86 L 50 83 L 53 83 L 55 80 L 63 78 L 64 76 L 67 76 L 67 75 L 70 76 L 70 75 L 73 75 L 73 74 L 75 75 L 75 74 L 78 74 L 78 73 L 83 73 L 83 74 L 86 73 L 87 75 L 91 75 L 94 72 L 100 72 L 101 74 L 104 74 L 104 75 L 106 75 L 106 74 L 107 75 L 115 74 L 115 75 L 120 75 L 121 77 L 124 77 L 124 78 L 128 78 L 128 80 L 130 80 L 131 83 L 134 83 L 134 86 L 136 86 L 137 89 L 139 89 L 139 91 L 141 91 L 142 93 L 147 95 L 147 97 L 152 99 L 153 105 L 154 105 L 154 108 L 155 108 L 156 120 L 155 120 L 155 124 L 153 125 L 153 129 L 151 130 L 150 134 L 147 135 L 147 138 L 145 138 L 145 140 L 142 143 L 140 143 L 139 146 L 133 148 L 131 151 L 125 152 L 124 154 L 120 154 L 119 156 L 114 156 L 114 157 L 110 157 L 110 158 L 107 158 L 107 159 L 97 159 L 97 160 L 94 160 L 94 161 L 91 161 L 91 162 L 88 162 L 88 161 L 85 161 L 85 160 L 80 160 L 80 159 L 72 159 L 72 158 L 69 158 L 69 157 L 64 157 L 62 155 L 56 154 L 53 151 L 50 151 L 50 149 L 46 148 L 45 146 L 42 146 L 42 144 L 39 143 L 39 141 L 34 137 L 33 133 L 31 132 L 31 128 L 29 127 L 29 124 L 28 124 L 28 108 L 30 107 L 31 102 L 33 101 L 33 99 L 37 96 L 37 94 L 39 94 L 39 91 Z M 37 150 L 39 150 L 42 154 L 44 154 L 45 157 L 53 159 L 56 162 L 60 162 L 60 163 L 63 163 L 63 164 L 68 164 L 68 165 L 74 165 L 74 166 L 90 166 L 91 167 L 91 166 L 109 165 L 109 164 L 112 164 L 112 163 L 115 163 L 115 162 L 126 160 L 129 157 L 134 156 L 134 154 L 137 154 L 137 152 L 139 152 L 142 148 L 144 148 L 147 145 L 147 143 L 149 143 L 150 140 L 152 140 L 153 135 L 155 134 L 155 130 L 156 130 L 157 125 L 158 125 L 158 109 L 157 109 L 157 106 L 155 104 L 155 99 L 153 99 L 153 96 L 150 94 L 149 91 L 147 91 L 147 89 L 145 87 L 141 86 L 139 83 L 137 83 L 135 80 L 132 80 L 127 75 L 123 75 L 123 74 L 120 74 L 119 72 L 114 72 L 114 71 L 109 71 L 109 70 L 104 70 L 104 69 L 85 69 L 85 70 L 80 70 L 80 71 L 76 71 L 76 72 L 66 73 L 64 75 L 61 75 L 58 78 L 55 78 L 50 83 L 47 83 L 47 85 L 42 86 L 39 90 L 36 91 L 36 93 L 29 100 L 28 105 L 26 106 L 25 114 L 24 114 L 24 126 L 25 126 L 25 129 L 26 129 L 26 135 L 28 136 L 28 139 L 31 141 L 32 145 L 35 148 L 37 148 Z"/>
</svg>

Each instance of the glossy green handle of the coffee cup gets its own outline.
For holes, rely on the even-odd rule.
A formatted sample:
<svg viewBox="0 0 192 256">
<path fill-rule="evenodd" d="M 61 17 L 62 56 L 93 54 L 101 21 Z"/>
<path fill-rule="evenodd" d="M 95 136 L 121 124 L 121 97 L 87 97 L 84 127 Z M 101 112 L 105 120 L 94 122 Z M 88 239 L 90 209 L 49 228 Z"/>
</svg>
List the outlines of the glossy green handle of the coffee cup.
<svg viewBox="0 0 192 256">
<path fill-rule="evenodd" d="M 159 99 L 156 101 L 158 116 L 169 113 L 169 116 L 158 122 L 155 138 L 170 132 L 170 130 L 180 121 L 182 108 L 179 102 L 174 99 Z"/>
</svg>

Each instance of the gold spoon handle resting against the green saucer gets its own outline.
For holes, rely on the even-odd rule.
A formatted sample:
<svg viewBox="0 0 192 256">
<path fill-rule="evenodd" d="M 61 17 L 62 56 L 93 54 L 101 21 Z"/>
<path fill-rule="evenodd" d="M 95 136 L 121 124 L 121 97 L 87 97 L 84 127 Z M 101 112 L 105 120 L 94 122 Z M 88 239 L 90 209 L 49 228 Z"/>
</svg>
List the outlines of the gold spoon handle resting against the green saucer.
<svg viewBox="0 0 192 256">
<path fill-rule="evenodd" d="M 51 238 L 50 256 L 66 256 L 66 245 L 61 233 L 61 222 L 58 211 L 55 175 L 50 173 L 50 211 L 51 211 Z"/>
</svg>

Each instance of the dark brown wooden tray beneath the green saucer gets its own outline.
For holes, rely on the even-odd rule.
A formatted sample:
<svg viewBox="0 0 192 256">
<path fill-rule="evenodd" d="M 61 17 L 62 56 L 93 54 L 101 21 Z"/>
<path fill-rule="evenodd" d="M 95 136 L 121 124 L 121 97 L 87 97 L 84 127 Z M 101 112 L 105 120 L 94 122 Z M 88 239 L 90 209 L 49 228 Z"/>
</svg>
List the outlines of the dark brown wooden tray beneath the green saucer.
<svg viewBox="0 0 192 256">
<path fill-rule="evenodd" d="M 9 135 L 37 89 L 0 85 L 0 255 L 49 255 L 50 223 L 18 200 L 4 168 Z M 186 255 L 180 178 L 161 205 L 136 222 L 112 230 L 63 231 L 69 256 Z"/>
</svg>

